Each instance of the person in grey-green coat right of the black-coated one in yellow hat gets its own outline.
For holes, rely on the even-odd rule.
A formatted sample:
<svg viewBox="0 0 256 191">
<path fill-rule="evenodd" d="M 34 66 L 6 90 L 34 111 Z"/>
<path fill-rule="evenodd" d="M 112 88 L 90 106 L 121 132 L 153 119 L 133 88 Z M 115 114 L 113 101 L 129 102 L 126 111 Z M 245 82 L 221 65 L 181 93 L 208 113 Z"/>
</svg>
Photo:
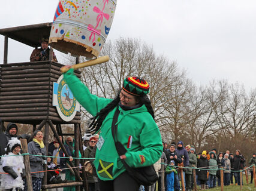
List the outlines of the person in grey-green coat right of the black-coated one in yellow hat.
<svg viewBox="0 0 256 191">
<path fill-rule="evenodd" d="M 218 170 L 217 164 L 217 156 L 215 152 L 209 152 L 210 160 L 209 160 L 209 188 L 215 187 L 216 185 L 213 184 L 214 178 L 216 176 L 216 172 Z"/>
</svg>

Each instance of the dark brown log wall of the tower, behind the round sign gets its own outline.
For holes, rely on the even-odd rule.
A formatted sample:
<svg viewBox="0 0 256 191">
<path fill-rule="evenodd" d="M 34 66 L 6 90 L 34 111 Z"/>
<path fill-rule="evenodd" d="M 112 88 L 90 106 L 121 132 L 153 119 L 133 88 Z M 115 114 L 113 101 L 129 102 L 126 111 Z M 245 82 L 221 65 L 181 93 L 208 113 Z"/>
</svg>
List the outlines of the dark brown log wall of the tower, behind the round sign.
<svg viewBox="0 0 256 191">
<path fill-rule="evenodd" d="M 52 106 L 53 82 L 61 76 L 62 64 L 52 61 L 0 64 L 0 118 L 7 122 L 40 124 L 44 119 L 53 124 L 77 124 L 74 119 L 64 122 Z M 76 72 L 80 78 L 80 72 Z"/>
</svg>

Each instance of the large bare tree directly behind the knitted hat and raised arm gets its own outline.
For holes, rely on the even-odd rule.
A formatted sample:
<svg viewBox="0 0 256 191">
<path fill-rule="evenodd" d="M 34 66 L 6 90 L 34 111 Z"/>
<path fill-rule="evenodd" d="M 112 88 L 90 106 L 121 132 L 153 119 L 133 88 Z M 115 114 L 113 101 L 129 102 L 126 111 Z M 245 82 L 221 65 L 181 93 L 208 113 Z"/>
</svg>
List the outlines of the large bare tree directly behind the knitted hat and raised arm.
<svg viewBox="0 0 256 191">
<path fill-rule="evenodd" d="M 170 63 L 164 56 L 156 56 L 152 47 L 137 39 L 119 38 L 109 41 L 101 51 L 108 55 L 107 63 L 82 69 L 82 81 L 92 94 L 114 98 L 128 76 L 146 79 L 150 85 L 149 97 L 155 111 L 155 121 L 161 126 L 163 106 L 170 101 L 168 94 L 180 75 L 176 63 Z M 80 62 L 86 61 L 84 57 Z M 71 63 L 74 59 L 71 58 Z M 86 119 L 91 117 L 83 110 Z"/>
</svg>

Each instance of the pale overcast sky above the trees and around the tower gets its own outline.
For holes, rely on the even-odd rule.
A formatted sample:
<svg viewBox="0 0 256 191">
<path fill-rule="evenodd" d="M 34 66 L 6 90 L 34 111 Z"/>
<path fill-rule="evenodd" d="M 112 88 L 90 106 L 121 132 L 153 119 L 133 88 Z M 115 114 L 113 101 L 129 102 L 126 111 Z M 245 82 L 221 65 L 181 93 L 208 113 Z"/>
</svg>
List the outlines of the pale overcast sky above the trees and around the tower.
<svg viewBox="0 0 256 191">
<path fill-rule="evenodd" d="M 0 28 L 51 22 L 58 2 L 3 1 Z M 256 87 L 255 20 L 255 0 L 118 0 L 107 39 L 141 39 L 186 69 L 197 85 L 226 79 L 249 91 Z M 0 63 L 3 49 L 0 35 Z M 8 63 L 29 61 L 32 50 L 9 39 Z"/>
</svg>

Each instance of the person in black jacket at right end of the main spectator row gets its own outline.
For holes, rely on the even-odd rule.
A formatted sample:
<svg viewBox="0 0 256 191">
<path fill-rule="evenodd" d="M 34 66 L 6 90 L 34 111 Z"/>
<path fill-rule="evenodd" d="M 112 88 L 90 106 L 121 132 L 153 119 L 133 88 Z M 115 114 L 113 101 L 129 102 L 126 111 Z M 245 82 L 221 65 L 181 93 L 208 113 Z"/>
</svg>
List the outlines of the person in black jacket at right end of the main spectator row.
<svg viewBox="0 0 256 191">
<path fill-rule="evenodd" d="M 238 171 L 238 172 L 234 172 L 234 180 L 236 182 L 236 185 L 240 185 L 240 170 L 243 170 L 243 168 L 245 167 L 245 158 L 243 157 L 243 155 L 241 154 L 240 150 L 236 150 L 236 155 L 234 155 L 234 159 L 233 159 L 233 165 L 234 165 L 234 171 Z M 243 183 L 242 183 L 243 184 Z"/>
</svg>

